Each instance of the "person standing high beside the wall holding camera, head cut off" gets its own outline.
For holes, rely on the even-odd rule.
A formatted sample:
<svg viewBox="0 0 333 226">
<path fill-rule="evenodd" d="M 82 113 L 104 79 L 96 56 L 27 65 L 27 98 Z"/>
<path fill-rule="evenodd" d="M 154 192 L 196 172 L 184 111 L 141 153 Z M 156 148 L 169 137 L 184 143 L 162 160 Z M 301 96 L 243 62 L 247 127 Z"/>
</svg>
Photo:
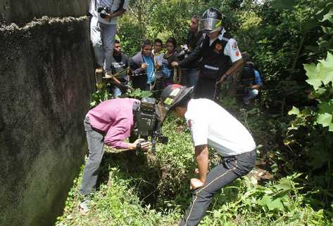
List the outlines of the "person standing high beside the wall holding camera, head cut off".
<svg viewBox="0 0 333 226">
<path fill-rule="evenodd" d="M 97 67 L 110 71 L 117 20 L 127 11 L 129 0 L 91 0 L 90 40 Z"/>
</svg>

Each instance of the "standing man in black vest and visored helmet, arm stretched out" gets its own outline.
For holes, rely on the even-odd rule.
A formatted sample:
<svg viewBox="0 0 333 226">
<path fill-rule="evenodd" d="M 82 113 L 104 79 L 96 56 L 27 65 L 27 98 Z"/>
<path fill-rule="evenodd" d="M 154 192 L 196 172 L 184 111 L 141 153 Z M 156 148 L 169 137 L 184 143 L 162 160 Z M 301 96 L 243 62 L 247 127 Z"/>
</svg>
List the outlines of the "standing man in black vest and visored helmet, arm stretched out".
<svg viewBox="0 0 333 226">
<path fill-rule="evenodd" d="M 195 98 L 217 98 L 220 84 L 243 63 L 237 41 L 222 27 L 222 14 L 208 8 L 200 20 L 199 30 L 206 33 L 203 43 L 187 58 L 172 66 L 187 67 L 202 58 Z M 230 67 L 230 60 L 232 66 Z"/>
</svg>

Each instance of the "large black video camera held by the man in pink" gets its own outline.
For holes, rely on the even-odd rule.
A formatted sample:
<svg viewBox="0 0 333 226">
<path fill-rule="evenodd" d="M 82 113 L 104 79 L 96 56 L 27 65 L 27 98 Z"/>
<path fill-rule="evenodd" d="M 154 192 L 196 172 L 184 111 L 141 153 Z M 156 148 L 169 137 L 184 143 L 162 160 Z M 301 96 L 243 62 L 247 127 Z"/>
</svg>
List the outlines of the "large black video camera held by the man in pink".
<svg viewBox="0 0 333 226">
<path fill-rule="evenodd" d="M 141 103 L 134 104 L 134 135 L 148 140 L 151 137 L 151 152 L 156 152 L 156 142 L 168 143 L 168 137 L 161 132 L 162 121 L 158 115 L 155 98 L 142 98 Z"/>
</svg>

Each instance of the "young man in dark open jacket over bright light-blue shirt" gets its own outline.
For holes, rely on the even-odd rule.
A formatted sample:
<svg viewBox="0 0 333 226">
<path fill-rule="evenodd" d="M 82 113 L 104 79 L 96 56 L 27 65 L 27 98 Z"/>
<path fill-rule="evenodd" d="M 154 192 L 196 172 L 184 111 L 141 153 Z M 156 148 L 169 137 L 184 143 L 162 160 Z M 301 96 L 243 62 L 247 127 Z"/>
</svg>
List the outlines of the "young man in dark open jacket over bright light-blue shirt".
<svg viewBox="0 0 333 226">
<path fill-rule="evenodd" d="M 140 88 L 143 91 L 151 90 L 155 81 L 154 55 L 151 41 L 144 40 L 141 51 L 135 54 L 130 60 L 130 68 L 132 69 L 132 86 Z"/>
</svg>

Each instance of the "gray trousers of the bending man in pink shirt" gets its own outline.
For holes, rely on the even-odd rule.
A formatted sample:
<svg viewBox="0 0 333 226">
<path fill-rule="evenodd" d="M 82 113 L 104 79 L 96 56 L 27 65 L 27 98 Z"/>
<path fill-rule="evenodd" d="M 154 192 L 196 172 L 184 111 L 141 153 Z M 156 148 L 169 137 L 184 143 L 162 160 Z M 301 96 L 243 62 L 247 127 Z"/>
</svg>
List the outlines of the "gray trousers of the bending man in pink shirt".
<svg viewBox="0 0 333 226">
<path fill-rule="evenodd" d="M 99 175 L 99 165 L 104 154 L 104 135 L 95 131 L 90 125 L 89 118 L 84 119 L 84 131 L 87 133 L 89 156 L 84 166 L 84 173 L 80 187 L 80 194 L 87 195 L 96 187 Z"/>
</svg>

